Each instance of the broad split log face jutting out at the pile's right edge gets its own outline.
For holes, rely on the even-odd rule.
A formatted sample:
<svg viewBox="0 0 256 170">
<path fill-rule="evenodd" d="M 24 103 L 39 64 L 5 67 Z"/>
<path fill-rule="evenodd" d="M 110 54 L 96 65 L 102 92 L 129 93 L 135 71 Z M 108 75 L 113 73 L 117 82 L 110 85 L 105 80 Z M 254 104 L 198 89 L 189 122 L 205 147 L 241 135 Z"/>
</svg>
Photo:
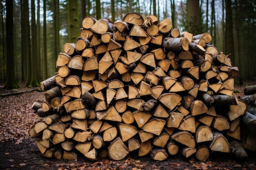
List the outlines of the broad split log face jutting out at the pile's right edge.
<svg viewBox="0 0 256 170">
<path fill-rule="evenodd" d="M 229 116 L 229 120 L 233 121 L 237 117 L 244 115 L 247 110 L 247 105 L 246 103 L 238 99 L 238 105 L 230 105 L 229 106 L 229 112 L 227 115 Z"/>
</svg>

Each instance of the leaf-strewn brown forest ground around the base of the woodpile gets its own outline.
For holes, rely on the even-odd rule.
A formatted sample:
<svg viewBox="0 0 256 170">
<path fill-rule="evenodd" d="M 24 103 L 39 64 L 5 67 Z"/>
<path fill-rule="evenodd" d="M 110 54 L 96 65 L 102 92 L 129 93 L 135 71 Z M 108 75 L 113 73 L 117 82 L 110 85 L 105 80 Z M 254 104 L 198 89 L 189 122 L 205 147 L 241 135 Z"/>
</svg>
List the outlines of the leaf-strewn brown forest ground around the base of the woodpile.
<svg viewBox="0 0 256 170">
<path fill-rule="evenodd" d="M 243 97 L 244 87 L 255 84 L 235 85 L 235 90 L 239 92 L 236 95 Z M 13 92 L 15 95 L 7 95 Z M 106 158 L 90 161 L 82 155 L 75 161 L 48 159 L 39 152 L 36 138 L 28 134 L 31 126 L 42 120 L 31 109 L 36 99 L 44 99 L 44 93 L 38 88 L 4 90 L 0 86 L 0 170 L 256 170 L 256 154 L 252 151 L 247 152 L 249 157 L 243 162 L 236 160 L 232 154 L 219 152 L 212 152 L 204 162 L 194 156 L 185 158 L 181 154 L 164 161 L 133 155 L 121 161 Z"/>
</svg>

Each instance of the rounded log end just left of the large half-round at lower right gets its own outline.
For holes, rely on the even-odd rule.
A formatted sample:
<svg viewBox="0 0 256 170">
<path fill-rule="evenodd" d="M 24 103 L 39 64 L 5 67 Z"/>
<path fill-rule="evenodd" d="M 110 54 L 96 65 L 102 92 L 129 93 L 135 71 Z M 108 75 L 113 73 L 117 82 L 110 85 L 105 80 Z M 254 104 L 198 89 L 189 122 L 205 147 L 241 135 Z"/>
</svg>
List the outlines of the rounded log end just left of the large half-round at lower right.
<svg viewBox="0 0 256 170">
<path fill-rule="evenodd" d="M 209 126 L 200 125 L 196 128 L 195 131 L 195 142 L 200 143 L 204 141 L 212 141 L 213 133 Z"/>
</svg>

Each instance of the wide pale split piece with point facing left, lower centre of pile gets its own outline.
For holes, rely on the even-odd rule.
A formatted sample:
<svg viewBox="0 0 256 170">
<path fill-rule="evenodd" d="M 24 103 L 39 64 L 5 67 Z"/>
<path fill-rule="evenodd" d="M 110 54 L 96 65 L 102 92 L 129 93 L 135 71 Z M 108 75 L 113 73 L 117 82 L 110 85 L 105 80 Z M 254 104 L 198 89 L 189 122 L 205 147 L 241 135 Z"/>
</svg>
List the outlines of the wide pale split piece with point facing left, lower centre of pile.
<svg viewBox="0 0 256 170">
<path fill-rule="evenodd" d="M 153 133 L 155 135 L 160 135 L 165 124 L 166 121 L 163 119 L 151 118 L 146 122 L 146 124 L 144 124 L 141 127 L 141 129 L 145 130 L 146 132 Z"/>
</svg>

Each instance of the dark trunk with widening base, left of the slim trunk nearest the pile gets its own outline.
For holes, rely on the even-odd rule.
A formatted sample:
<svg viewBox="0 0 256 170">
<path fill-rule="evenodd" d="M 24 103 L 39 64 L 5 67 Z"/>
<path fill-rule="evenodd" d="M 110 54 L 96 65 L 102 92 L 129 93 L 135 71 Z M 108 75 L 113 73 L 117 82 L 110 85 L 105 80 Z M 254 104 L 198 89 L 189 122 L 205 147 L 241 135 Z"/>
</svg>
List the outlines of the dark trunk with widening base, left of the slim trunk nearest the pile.
<svg viewBox="0 0 256 170">
<path fill-rule="evenodd" d="M 38 57 L 37 57 L 37 37 L 36 37 L 36 10 L 35 0 L 31 0 L 31 81 L 29 86 L 39 86 L 38 81 Z"/>
</svg>

